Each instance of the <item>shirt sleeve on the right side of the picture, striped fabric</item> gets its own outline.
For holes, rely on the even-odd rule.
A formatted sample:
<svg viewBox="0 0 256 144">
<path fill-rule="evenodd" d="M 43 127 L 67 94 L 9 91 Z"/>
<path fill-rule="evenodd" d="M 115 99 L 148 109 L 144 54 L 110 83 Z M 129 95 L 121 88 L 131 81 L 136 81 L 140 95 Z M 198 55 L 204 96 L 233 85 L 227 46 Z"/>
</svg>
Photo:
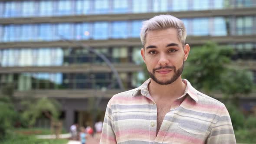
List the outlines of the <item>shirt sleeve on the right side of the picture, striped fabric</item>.
<svg viewBox="0 0 256 144">
<path fill-rule="evenodd" d="M 231 118 L 225 105 L 220 109 L 220 116 L 216 118 L 217 122 L 213 124 L 207 144 L 236 144 Z"/>
</svg>

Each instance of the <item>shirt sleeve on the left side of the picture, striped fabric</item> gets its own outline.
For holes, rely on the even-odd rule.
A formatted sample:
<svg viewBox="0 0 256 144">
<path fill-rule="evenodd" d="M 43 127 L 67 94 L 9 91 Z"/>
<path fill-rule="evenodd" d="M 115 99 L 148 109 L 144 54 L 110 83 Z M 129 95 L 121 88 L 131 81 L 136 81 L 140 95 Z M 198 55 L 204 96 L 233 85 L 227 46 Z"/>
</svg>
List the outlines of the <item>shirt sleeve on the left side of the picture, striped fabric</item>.
<svg viewBox="0 0 256 144">
<path fill-rule="evenodd" d="M 100 144 L 117 144 L 110 101 L 108 102 L 105 112 Z"/>
</svg>

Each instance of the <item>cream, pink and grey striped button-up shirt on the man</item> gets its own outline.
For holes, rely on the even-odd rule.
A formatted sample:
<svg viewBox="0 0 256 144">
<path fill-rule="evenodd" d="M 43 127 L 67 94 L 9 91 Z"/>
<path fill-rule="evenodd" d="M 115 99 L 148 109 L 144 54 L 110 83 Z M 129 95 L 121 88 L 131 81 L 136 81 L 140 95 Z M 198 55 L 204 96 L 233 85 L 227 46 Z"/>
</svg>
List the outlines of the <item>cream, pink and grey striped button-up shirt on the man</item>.
<svg viewBox="0 0 256 144">
<path fill-rule="evenodd" d="M 158 111 L 148 91 L 150 81 L 110 99 L 100 144 L 236 144 L 225 105 L 186 79 L 184 95 L 173 102 L 157 134 Z"/>
</svg>

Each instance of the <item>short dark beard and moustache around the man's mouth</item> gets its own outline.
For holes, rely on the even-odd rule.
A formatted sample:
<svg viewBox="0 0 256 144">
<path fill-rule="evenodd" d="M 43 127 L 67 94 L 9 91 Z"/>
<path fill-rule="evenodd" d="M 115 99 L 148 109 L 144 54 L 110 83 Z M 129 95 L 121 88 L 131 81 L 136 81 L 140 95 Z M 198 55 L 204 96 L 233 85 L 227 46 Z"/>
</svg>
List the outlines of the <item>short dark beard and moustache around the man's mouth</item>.
<svg viewBox="0 0 256 144">
<path fill-rule="evenodd" d="M 181 68 L 176 69 L 175 66 L 160 66 L 159 68 L 153 69 L 153 72 L 149 72 L 148 74 L 150 75 L 151 79 L 153 79 L 155 82 L 157 82 L 159 85 L 169 85 L 173 82 L 175 82 L 180 76 L 181 73 L 183 72 L 183 68 L 184 68 L 184 61 L 181 65 Z M 174 69 L 174 75 L 173 77 L 171 77 L 171 79 L 167 80 L 167 81 L 160 81 L 159 79 L 156 78 L 155 71 L 160 70 L 160 69 Z"/>
</svg>

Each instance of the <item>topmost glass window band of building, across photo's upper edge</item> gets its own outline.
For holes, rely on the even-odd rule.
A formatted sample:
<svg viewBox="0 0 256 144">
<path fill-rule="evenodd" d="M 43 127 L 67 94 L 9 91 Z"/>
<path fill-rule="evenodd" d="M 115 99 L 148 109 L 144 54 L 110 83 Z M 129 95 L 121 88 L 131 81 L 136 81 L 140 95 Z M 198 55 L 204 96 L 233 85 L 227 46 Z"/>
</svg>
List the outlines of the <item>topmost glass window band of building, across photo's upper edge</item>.
<svg viewBox="0 0 256 144">
<path fill-rule="evenodd" d="M 143 3 L 143 4 L 141 4 Z M 255 0 L 8 0 L 0 17 L 150 13 L 256 7 Z"/>
</svg>

